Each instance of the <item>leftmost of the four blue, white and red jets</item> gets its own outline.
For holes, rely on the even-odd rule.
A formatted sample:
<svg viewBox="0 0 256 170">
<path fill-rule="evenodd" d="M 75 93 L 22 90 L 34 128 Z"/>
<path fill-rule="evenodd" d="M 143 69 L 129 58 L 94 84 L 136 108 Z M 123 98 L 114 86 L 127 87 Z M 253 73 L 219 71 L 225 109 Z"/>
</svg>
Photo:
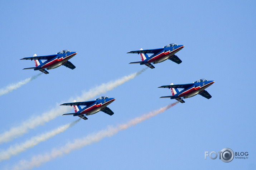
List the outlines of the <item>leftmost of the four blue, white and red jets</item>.
<svg viewBox="0 0 256 170">
<path fill-rule="evenodd" d="M 46 69 L 53 69 L 57 68 L 61 65 L 66 66 L 70 69 L 76 68 L 70 61 L 68 61 L 70 58 L 74 57 L 77 54 L 77 52 L 71 52 L 69 50 L 62 50 L 54 55 L 49 56 L 37 56 L 34 54 L 33 57 L 25 57 L 21 58 L 20 60 L 35 60 L 35 67 L 30 68 L 24 68 L 24 69 L 34 69 L 39 70 L 45 74 L 49 74 Z M 41 60 L 47 60 L 42 62 Z"/>
</svg>

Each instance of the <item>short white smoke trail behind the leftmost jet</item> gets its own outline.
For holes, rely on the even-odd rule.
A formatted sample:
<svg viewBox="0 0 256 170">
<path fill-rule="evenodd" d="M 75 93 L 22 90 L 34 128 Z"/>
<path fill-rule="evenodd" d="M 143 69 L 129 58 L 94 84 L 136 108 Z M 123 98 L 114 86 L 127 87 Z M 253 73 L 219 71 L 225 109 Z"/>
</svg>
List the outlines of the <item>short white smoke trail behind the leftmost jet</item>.
<svg viewBox="0 0 256 170">
<path fill-rule="evenodd" d="M 22 80 L 22 81 L 20 81 L 20 82 L 18 82 L 16 84 L 10 84 L 10 85 L 0 89 L 0 96 L 3 96 L 4 94 L 7 94 L 9 92 L 12 92 L 13 90 L 23 86 L 24 84 L 31 82 L 32 80 L 36 79 L 41 74 L 43 74 L 43 73 L 39 73 L 39 74 L 37 74 L 35 76 L 32 76 L 32 77 L 27 78 L 25 80 Z"/>
</svg>

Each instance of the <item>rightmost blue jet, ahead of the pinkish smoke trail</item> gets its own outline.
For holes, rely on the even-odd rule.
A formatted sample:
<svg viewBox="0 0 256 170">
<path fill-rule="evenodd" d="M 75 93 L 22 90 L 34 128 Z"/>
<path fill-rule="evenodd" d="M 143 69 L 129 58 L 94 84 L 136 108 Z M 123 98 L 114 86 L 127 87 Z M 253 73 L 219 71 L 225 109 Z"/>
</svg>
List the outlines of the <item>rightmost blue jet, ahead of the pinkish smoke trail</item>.
<svg viewBox="0 0 256 170">
<path fill-rule="evenodd" d="M 172 91 L 173 96 L 163 96 L 160 98 L 170 98 L 170 99 L 176 99 L 177 101 L 180 101 L 180 103 L 185 103 L 183 99 L 193 97 L 197 94 L 200 94 L 201 96 L 210 99 L 212 96 L 205 90 L 207 87 L 211 86 L 214 83 L 214 81 L 208 81 L 207 79 L 199 79 L 198 81 L 195 81 L 194 83 L 190 84 L 170 84 L 167 86 L 160 86 L 158 88 L 169 88 Z M 182 91 L 179 91 L 177 88 L 183 88 Z M 182 99 L 183 98 L 183 99 Z"/>
</svg>

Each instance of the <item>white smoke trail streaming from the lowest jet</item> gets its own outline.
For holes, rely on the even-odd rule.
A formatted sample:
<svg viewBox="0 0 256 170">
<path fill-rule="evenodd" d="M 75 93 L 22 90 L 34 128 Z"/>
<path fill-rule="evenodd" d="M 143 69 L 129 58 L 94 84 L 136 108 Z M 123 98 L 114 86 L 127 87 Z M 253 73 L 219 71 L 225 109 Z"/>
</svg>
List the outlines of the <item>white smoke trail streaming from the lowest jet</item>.
<svg viewBox="0 0 256 170">
<path fill-rule="evenodd" d="M 50 132 L 38 135 L 38 136 L 34 136 L 32 137 L 30 140 L 25 141 L 22 144 L 17 144 L 15 146 L 10 146 L 9 149 L 5 150 L 5 151 L 1 151 L 0 152 L 0 162 L 3 160 L 7 160 L 10 159 L 11 156 L 17 155 L 21 152 L 26 151 L 29 148 L 33 148 L 35 145 L 38 145 L 39 143 L 48 140 L 49 138 L 52 138 L 53 136 L 62 133 L 64 131 L 66 131 L 68 128 L 72 127 L 73 125 L 75 125 L 77 122 L 79 122 L 82 118 L 79 118 L 78 120 L 68 123 L 66 125 L 63 125 L 57 129 L 54 129 Z"/>
</svg>

